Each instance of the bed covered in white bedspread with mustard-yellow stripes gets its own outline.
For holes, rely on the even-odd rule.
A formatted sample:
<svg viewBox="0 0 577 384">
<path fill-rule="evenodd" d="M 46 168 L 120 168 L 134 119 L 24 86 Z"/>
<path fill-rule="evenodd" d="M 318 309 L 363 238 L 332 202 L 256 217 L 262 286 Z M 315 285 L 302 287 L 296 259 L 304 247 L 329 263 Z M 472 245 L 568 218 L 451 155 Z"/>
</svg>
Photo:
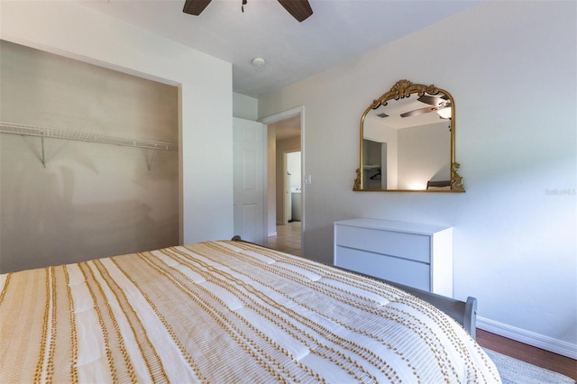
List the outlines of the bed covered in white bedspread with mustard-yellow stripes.
<svg viewBox="0 0 577 384">
<path fill-rule="evenodd" d="M 453 317 L 240 241 L 0 275 L 3 383 L 499 382 Z"/>
</svg>

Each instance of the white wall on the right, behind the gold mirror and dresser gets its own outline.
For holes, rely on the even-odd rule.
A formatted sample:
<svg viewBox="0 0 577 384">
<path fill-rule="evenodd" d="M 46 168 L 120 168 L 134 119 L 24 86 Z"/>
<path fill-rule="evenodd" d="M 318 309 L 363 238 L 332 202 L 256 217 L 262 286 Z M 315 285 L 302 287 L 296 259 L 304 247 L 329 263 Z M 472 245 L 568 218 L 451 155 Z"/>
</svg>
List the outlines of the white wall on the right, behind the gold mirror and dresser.
<svg viewBox="0 0 577 384">
<path fill-rule="evenodd" d="M 333 222 L 454 227 L 454 297 L 481 325 L 577 356 L 575 2 L 488 2 L 261 97 L 307 108 L 305 251 L 332 261 Z M 455 99 L 463 194 L 353 192 L 359 120 L 396 81 Z"/>
</svg>

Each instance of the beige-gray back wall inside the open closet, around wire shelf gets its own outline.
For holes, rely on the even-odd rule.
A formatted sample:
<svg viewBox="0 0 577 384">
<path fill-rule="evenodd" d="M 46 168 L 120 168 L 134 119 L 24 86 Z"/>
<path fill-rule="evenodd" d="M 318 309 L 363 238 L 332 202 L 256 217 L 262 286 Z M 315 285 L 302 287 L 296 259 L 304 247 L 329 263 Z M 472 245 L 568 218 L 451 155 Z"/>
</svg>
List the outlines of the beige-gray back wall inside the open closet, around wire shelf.
<svg viewBox="0 0 577 384">
<path fill-rule="evenodd" d="M 178 87 L 8 41 L 0 52 L 0 121 L 178 144 Z M 179 243 L 178 151 L 44 151 L 46 168 L 40 138 L 0 134 L 0 272 Z"/>
</svg>

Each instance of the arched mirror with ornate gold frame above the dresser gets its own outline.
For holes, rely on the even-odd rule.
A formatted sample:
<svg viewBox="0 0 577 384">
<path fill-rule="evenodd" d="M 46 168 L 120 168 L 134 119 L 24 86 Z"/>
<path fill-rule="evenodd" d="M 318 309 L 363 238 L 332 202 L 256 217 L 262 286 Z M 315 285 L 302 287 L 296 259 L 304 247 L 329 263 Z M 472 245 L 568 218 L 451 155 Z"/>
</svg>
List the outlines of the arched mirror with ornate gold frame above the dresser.
<svg viewBox="0 0 577 384">
<path fill-rule="evenodd" d="M 353 190 L 464 192 L 454 137 L 453 96 L 399 80 L 362 114 Z"/>
</svg>

